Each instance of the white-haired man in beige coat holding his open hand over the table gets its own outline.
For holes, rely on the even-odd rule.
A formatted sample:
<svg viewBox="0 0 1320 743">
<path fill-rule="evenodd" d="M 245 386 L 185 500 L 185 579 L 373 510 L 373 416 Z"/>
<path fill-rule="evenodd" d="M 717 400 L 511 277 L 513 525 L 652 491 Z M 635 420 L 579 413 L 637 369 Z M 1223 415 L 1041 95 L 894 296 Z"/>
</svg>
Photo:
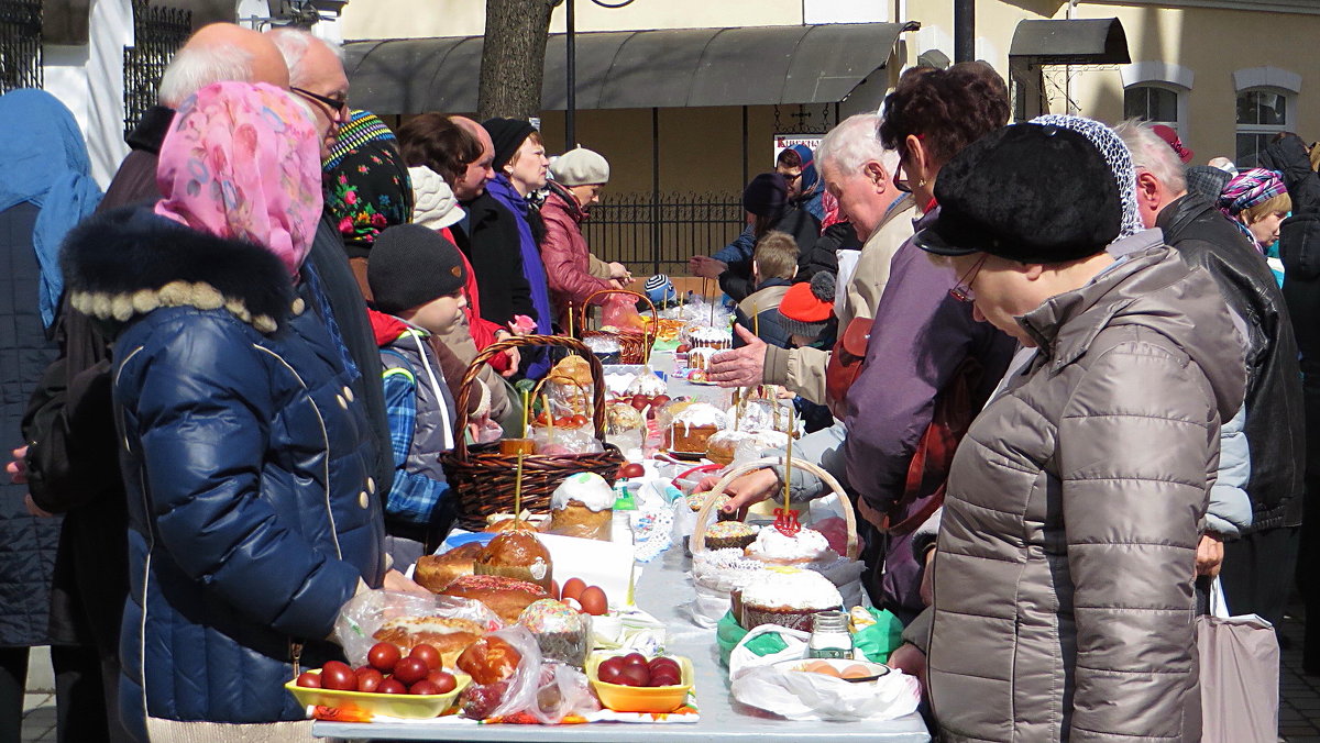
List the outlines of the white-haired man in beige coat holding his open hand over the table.
<svg viewBox="0 0 1320 743">
<path fill-rule="evenodd" d="M 840 216 L 851 222 L 863 243 L 857 269 L 843 289 L 846 294 L 838 311 L 840 338 L 847 335 L 851 325 L 862 329 L 863 335 L 869 331 L 875 306 L 890 280 L 890 261 L 899 245 L 912 236 L 912 197 L 894 185 L 899 156 L 880 146 L 876 136 L 879 124 L 880 116 L 875 113 L 849 116 L 825 135 L 816 149 L 825 187 L 838 199 Z M 738 331 L 747 344 L 719 354 L 710 368 L 711 381 L 723 387 L 781 384 L 812 403 L 830 403 L 825 384 L 830 351 L 779 348 L 742 329 Z M 863 339 L 857 355 L 865 354 Z M 833 403 L 842 403 L 842 399 Z"/>
</svg>

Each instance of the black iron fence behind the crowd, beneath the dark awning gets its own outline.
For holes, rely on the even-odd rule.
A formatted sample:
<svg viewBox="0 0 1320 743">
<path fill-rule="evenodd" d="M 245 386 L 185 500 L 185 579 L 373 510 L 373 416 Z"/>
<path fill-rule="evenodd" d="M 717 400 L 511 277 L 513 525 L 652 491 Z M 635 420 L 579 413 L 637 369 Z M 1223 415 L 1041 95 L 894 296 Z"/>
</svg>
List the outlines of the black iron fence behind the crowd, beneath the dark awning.
<svg viewBox="0 0 1320 743">
<path fill-rule="evenodd" d="M 582 223 L 591 252 L 634 273 L 686 273 L 688 259 L 711 255 L 743 228 L 738 194 L 614 194 Z"/>
</svg>

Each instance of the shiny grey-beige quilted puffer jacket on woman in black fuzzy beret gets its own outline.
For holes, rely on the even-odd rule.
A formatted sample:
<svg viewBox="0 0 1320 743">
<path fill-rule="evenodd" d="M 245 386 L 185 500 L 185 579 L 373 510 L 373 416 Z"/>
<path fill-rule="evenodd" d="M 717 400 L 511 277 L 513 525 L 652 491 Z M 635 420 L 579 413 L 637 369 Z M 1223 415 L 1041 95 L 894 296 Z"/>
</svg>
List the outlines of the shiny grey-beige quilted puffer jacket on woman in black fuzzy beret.
<svg viewBox="0 0 1320 743">
<path fill-rule="evenodd" d="M 1019 323 L 1041 352 L 972 424 L 948 483 L 942 739 L 1200 740 L 1192 573 L 1241 335 L 1210 276 L 1162 247 Z"/>
</svg>

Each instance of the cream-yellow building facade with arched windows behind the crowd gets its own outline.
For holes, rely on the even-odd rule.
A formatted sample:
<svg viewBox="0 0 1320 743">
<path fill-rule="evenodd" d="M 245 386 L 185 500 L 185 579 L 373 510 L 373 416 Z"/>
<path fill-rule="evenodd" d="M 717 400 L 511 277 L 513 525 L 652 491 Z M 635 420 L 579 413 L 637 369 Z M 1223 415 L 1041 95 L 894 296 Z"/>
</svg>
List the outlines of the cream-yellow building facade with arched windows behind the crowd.
<svg viewBox="0 0 1320 743">
<path fill-rule="evenodd" d="M 656 29 L 920 24 L 894 37 L 882 69 L 837 102 L 837 111 L 820 104 L 748 106 L 746 149 L 743 107 L 661 107 L 655 121 L 660 189 L 729 191 L 743 182 L 744 158 L 752 174 L 771 165 L 776 132 L 822 131 L 837 123 L 836 113 L 874 108 L 898 74 L 919 59 L 952 58 L 952 0 L 634 0 L 606 8 L 577 0 L 577 32 L 589 38 Z M 1199 160 L 1226 156 L 1243 166 L 1254 164 L 1261 143 L 1278 131 L 1320 137 L 1320 92 L 1307 95 L 1308 81 L 1320 84 L 1320 58 L 1308 50 L 1320 33 L 1317 0 L 978 0 L 975 9 L 977 57 L 1011 81 L 1019 116 L 1049 111 L 1110 123 L 1129 116 L 1164 121 Z M 564 32 L 564 15 L 561 5 L 552 34 Z M 1040 59 L 1026 74 L 1012 63 L 1023 21 L 1107 18 L 1117 18 L 1126 36 L 1127 63 L 1092 62 L 1082 54 L 1069 65 Z M 483 30 L 484 3 L 474 0 L 359 1 L 345 8 L 342 24 L 350 49 L 371 40 L 479 37 Z M 871 46 L 884 45 L 884 36 L 876 34 Z M 552 37 L 548 57 L 562 48 Z M 746 70 L 748 77 L 756 73 Z M 475 91 L 477 81 L 454 84 Z M 407 116 L 426 110 L 428 102 L 411 106 L 380 113 Z M 652 189 L 652 111 L 579 107 L 577 140 L 622 165 L 615 168 L 616 190 Z M 541 120 L 550 149 L 561 149 L 562 113 L 546 110 Z"/>
</svg>

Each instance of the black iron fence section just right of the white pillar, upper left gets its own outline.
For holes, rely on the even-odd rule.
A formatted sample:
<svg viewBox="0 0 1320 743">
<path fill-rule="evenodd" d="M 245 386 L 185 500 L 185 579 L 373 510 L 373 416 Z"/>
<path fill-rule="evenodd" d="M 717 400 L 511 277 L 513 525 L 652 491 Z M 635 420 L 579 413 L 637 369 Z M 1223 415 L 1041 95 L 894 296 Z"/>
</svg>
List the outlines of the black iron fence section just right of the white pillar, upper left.
<svg viewBox="0 0 1320 743">
<path fill-rule="evenodd" d="M 124 135 L 133 131 L 148 108 L 165 67 L 189 34 L 193 12 L 149 0 L 133 0 L 133 45 L 124 48 Z"/>
</svg>

